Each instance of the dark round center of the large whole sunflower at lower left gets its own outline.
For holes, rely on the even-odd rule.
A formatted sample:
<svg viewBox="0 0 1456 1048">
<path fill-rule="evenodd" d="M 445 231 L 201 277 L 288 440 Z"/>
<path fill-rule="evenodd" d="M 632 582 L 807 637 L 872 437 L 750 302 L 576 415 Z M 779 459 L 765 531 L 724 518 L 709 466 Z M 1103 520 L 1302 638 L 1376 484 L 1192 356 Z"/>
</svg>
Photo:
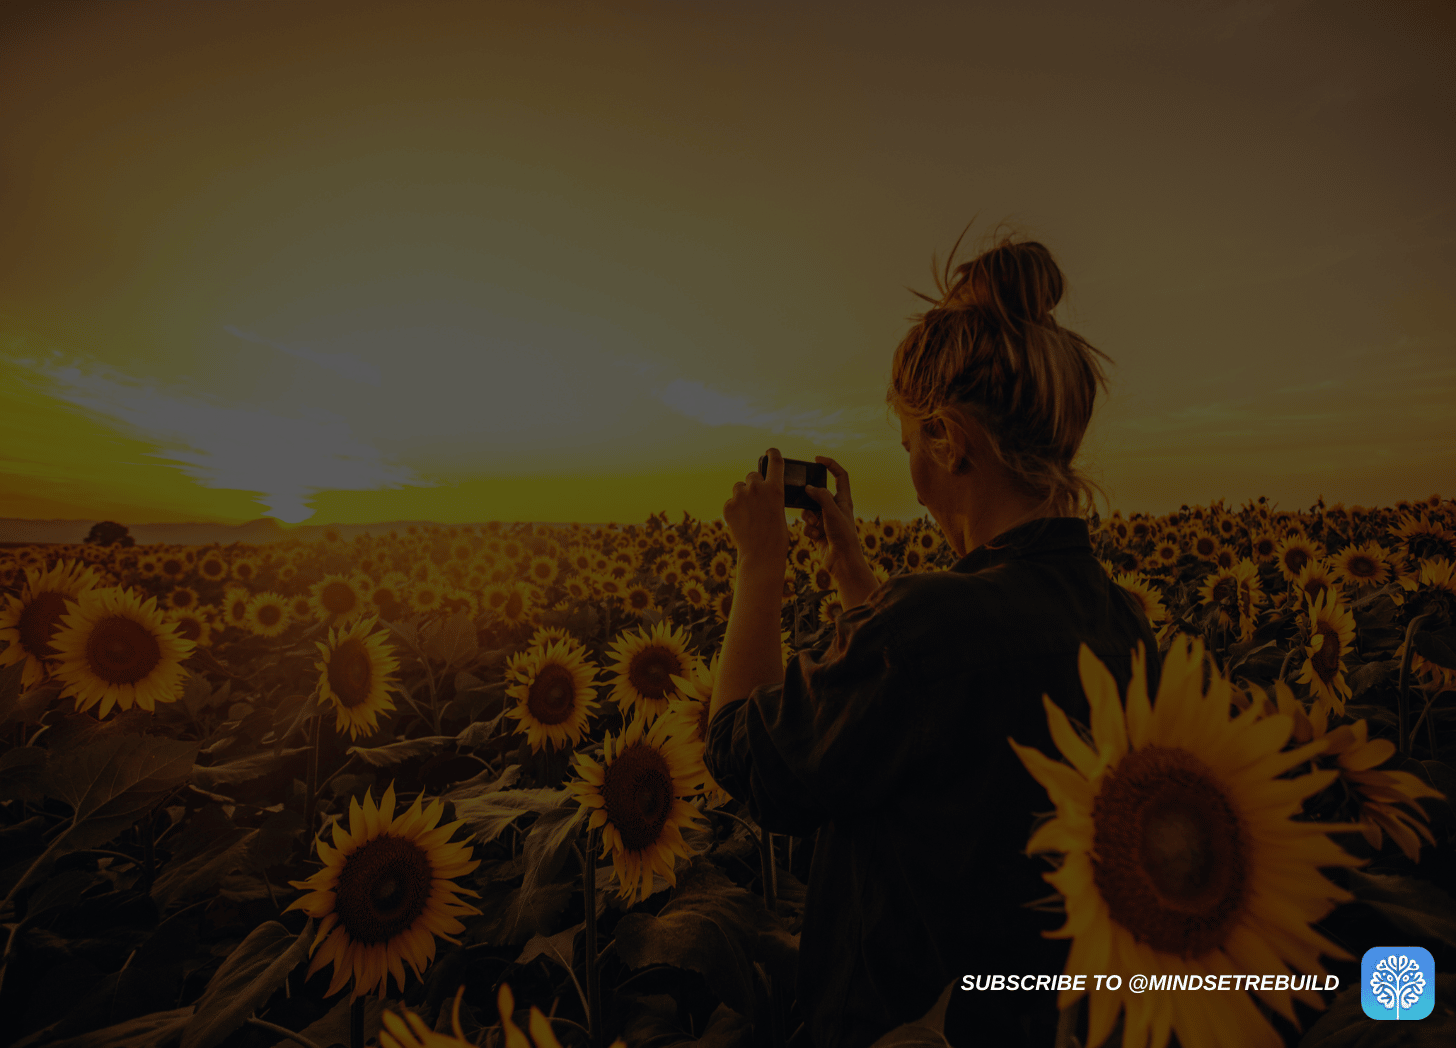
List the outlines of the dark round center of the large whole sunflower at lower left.
<svg viewBox="0 0 1456 1048">
<path fill-rule="evenodd" d="M 384 834 L 348 859 L 333 889 L 333 908 L 344 932 L 374 946 L 411 929 L 430 902 L 434 868 L 411 840 Z"/>
</svg>

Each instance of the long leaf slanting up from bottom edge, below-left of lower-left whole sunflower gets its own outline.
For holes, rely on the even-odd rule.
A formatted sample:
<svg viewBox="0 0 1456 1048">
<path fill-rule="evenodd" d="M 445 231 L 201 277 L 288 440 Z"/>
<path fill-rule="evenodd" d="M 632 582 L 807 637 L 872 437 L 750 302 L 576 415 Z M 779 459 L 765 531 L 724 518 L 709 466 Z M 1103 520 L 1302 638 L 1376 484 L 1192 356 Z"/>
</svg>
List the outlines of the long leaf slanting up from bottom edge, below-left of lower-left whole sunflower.
<svg viewBox="0 0 1456 1048">
<path fill-rule="evenodd" d="M 312 942 L 312 917 L 298 934 L 278 921 L 253 929 L 202 990 L 197 1015 L 182 1031 L 182 1048 L 215 1048 L 226 1041 L 309 956 Z"/>
</svg>

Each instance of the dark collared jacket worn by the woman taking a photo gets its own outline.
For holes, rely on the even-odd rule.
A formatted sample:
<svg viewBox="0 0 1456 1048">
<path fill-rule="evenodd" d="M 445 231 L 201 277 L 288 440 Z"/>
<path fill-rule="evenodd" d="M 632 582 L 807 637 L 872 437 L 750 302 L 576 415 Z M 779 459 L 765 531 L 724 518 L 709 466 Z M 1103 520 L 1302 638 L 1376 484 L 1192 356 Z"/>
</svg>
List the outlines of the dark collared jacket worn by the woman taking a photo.
<svg viewBox="0 0 1456 1048">
<path fill-rule="evenodd" d="M 706 764 L 772 833 L 818 831 L 796 996 L 814 1048 L 862 1048 L 962 975 L 1057 974 L 1069 942 L 1050 866 L 1025 854 L 1045 790 L 1008 738 L 1048 757 L 1042 693 L 1086 725 L 1082 643 L 1120 694 L 1158 643 L 1092 556 L 1086 521 L 1031 521 L 948 572 L 893 578 L 844 611 L 782 686 L 719 710 Z M 946 1035 L 1051 1044 L 1056 994 L 952 993 Z M 1050 1023 L 1050 1025 L 1048 1025 Z M 796 1041 L 795 1044 L 802 1042 Z"/>
</svg>

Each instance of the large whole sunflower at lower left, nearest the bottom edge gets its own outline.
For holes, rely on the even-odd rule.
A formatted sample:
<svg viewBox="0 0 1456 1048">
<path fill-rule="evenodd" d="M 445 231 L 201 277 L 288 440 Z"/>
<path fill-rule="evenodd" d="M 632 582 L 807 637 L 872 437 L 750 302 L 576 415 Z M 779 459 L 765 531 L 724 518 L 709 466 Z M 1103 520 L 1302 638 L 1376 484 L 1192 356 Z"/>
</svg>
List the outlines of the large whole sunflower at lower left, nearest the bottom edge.
<svg viewBox="0 0 1456 1048">
<path fill-rule="evenodd" d="M 332 961 L 333 981 L 325 997 L 342 990 L 349 975 L 349 1000 L 367 993 L 384 996 L 390 975 L 403 993 L 405 961 L 422 978 L 435 956 L 435 936 L 460 945 L 450 937 L 464 930 L 456 917 L 480 911 L 456 898 L 476 892 L 451 878 L 464 876 L 480 862 L 470 857 L 469 838 L 450 843 L 463 819 L 435 825 L 443 812 L 440 801 L 421 811 L 416 796 L 396 818 L 393 783 L 379 808 L 370 792 L 363 806 L 349 798 L 348 833 L 335 822 L 333 847 L 317 841 L 323 869 L 307 881 L 288 882 L 307 894 L 287 908 L 320 920 L 306 978 Z"/>
</svg>

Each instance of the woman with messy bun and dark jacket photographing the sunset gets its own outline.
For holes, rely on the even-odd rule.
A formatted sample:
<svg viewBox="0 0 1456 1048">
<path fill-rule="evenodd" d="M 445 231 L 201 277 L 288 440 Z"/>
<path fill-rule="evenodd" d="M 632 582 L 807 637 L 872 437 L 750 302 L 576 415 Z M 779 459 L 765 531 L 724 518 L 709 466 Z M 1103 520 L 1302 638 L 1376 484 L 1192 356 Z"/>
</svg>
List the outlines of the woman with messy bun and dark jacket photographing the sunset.
<svg viewBox="0 0 1456 1048">
<path fill-rule="evenodd" d="M 804 521 L 844 610 L 833 640 L 785 670 L 776 448 L 769 476 L 750 473 L 724 505 L 738 578 L 705 760 L 764 828 L 817 834 L 795 1047 L 869 1045 L 952 982 L 952 1045 L 1050 1045 L 1053 991 L 960 990 L 964 975 L 1059 974 L 1067 953 L 1041 934 L 1064 923 L 1048 866 L 1025 854 L 1053 805 L 1008 738 L 1059 758 L 1042 694 L 1086 723 L 1082 643 L 1120 693 L 1142 643 L 1158 687 L 1152 627 L 1092 556 L 1082 517 L 1095 485 L 1072 460 L 1102 354 L 1050 316 L 1061 271 L 1040 243 L 1009 239 L 949 269 L 939 300 L 920 295 L 933 309 L 895 349 L 887 402 L 916 495 L 960 556 L 951 571 L 877 588 L 849 475 L 820 457 L 836 491 L 811 488 L 820 511 Z"/>
</svg>

